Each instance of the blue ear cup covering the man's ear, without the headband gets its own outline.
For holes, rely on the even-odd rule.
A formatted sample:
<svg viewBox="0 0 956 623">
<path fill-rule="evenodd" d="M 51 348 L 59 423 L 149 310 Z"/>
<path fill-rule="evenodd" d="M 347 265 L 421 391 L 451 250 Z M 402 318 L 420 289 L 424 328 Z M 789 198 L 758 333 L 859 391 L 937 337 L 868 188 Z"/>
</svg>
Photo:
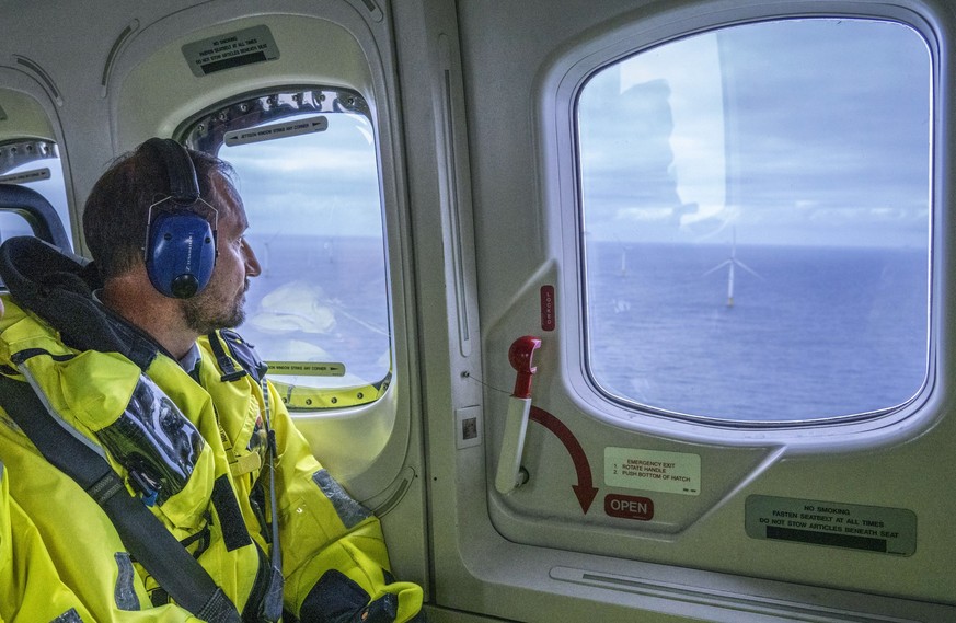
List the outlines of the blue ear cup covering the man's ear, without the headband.
<svg viewBox="0 0 956 623">
<path fill-rule="evenodd" d="M 209 282 L 216 236 L 204 217 L 186 210 L 156 215 L 147 234 L 146 272 L 166 297 L 188 299 Z"/>
</svg>

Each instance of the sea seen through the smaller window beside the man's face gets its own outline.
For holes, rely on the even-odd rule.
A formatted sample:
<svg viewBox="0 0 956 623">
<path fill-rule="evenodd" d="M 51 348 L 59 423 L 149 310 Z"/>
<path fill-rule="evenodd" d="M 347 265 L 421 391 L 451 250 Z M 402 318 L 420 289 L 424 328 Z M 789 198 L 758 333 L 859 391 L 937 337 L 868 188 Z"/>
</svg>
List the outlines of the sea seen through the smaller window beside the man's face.
<svg viewBox="0 0 956 623">
<path fill-rule="evenodd" d="M 375 238 L 249 236 L 262 266 L 239 333 L 266 361 L 338 364 L 344 373 L 295 384 L 376 383 L 391 369 L 388 280 Z"/>
</svg>

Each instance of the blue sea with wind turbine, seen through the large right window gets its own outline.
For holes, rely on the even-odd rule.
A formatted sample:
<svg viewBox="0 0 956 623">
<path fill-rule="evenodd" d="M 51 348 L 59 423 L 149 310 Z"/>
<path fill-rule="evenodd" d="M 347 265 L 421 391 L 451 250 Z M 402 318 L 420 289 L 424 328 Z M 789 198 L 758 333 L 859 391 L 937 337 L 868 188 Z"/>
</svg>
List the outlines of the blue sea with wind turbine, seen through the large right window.
<svg viewBox="0 0 956 623">
<path fill-rule="evenodd" d="M 808 420 L 898 406 L 926 379 L 925 250 L 598 242 L 587 257 L 588 371 L 624 401 Z"/>
</svg>

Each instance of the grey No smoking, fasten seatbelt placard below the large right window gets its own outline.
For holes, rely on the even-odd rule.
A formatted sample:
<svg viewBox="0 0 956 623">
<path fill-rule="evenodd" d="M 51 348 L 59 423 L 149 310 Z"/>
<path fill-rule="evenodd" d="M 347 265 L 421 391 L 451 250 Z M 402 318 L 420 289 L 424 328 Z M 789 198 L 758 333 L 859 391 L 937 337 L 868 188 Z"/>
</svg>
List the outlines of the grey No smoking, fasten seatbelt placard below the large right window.
<svg viewBox="0 0 956 623">
<path fill-rule="evenodd" d="M 917 516 L 905 508 L 751 495 L 746 527 L 755 539 L 898 556 L 917 551 Z"/>
</svg>

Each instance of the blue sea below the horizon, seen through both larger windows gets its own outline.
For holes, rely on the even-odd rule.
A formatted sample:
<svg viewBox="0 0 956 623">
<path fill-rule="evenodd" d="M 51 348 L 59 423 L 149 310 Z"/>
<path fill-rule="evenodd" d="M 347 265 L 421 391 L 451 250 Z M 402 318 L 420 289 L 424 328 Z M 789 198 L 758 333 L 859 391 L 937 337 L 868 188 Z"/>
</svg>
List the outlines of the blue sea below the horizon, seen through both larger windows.
<svg viewBox="0 0 956 623">
<path fill-rule="evenodd" d="M 251 242 L 263 274 L 240 332 L 264 358 L 345 369 L 297 382 L 382 379 L 381 241 Z M 586 373 L 622 402 L 722 420 L 811 420 L 901 405 L 926 380 L 925 250 L 589 241 L 586 251 Z"/>
</svg>

